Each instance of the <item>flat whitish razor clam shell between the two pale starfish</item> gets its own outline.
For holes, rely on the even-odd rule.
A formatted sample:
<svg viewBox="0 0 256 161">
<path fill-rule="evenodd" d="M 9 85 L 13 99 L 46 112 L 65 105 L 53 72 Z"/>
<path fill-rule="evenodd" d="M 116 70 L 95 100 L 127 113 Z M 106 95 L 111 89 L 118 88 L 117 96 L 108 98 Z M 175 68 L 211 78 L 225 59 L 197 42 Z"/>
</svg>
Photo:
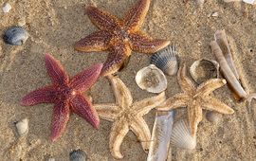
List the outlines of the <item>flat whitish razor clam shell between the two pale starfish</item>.
<svg viewBox="0 0 256 161">
<path fill-rule="evenodd" d="M 155 114 L 152 142 L 150 144 L 147 161 L 166 160 L 174 124 L 174 111 L 161 112 Z"/>
</svg>

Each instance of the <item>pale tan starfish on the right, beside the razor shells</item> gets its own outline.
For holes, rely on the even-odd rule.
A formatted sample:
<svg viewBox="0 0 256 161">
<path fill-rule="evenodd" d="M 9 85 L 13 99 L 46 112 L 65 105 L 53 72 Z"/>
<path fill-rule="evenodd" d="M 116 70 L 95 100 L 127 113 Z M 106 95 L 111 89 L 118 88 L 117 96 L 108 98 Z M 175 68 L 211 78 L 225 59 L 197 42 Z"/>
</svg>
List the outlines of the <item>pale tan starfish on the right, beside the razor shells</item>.
<svg viewBox="0 0 256 161">
<path fill-rule="evenodd" d="M 225 85 L 226 80 L 210 79 L 196 87 L 193 81 L 186 76 L 186 64 L 179 69 L 177 80 L 183 93 L 168 98 L 157 107 L 157 110 L 169 111 L 179 107 L 187 107 L 192 136 L 196 134 L 197 126 L 202 120 L 202 109 L 222 114 L 234 113 L 227 104 L 210 96 L 212 91 Z"/>
</svg>

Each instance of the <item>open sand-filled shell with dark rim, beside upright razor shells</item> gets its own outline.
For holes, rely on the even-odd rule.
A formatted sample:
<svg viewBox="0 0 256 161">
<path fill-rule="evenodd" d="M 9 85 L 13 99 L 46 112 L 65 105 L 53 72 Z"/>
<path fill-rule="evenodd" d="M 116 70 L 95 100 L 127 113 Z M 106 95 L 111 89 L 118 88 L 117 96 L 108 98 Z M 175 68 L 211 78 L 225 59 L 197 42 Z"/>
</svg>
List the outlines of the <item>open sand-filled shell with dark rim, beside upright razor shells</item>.
<svg viewBox="0 0 256 161">
<path fill-rule="evenodd" d="M 219 63 L 208 59 L 197 60 L 192 63 L 190 73 L 192 79 L 198 84 L 206 80 L 219 78 Z"/>
</svg>

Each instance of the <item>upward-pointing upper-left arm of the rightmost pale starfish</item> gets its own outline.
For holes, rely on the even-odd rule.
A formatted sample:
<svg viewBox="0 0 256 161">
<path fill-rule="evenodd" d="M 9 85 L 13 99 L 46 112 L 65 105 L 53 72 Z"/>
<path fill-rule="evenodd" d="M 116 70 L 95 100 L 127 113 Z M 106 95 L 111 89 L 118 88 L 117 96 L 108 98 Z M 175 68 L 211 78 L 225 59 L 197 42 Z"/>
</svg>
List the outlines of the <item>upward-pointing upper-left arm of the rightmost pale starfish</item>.
<svg viewBox="0 0 256 161">
<path fill-rule="evenodd" d="M 195 92 L 195 84 L 187 76 L 187 66 L 184 63 L 178 70 L 177 80 L 182 91 L 192 94 Z"/>
</svg>

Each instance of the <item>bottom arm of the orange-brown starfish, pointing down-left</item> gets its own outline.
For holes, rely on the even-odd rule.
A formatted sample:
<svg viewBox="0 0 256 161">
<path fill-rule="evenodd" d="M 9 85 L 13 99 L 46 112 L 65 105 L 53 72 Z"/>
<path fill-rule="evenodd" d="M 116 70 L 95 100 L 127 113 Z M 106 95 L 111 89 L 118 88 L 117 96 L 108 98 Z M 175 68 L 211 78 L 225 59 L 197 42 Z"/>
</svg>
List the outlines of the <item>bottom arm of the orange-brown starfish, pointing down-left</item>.
<svg viewBox="0 0 256 161">
<path fill-rule="evenodd" d="M 121 68 L 127 65 L 126 60 L 129 59 L 131 55 L 131 48 L 129 45 L 118 43 L 111 47 L 108 54 L 106 62 L 103 64 L 101 75 L 107 76 L 114 74 L 119 71 Z"/>
</svg>

